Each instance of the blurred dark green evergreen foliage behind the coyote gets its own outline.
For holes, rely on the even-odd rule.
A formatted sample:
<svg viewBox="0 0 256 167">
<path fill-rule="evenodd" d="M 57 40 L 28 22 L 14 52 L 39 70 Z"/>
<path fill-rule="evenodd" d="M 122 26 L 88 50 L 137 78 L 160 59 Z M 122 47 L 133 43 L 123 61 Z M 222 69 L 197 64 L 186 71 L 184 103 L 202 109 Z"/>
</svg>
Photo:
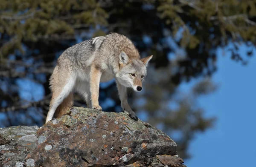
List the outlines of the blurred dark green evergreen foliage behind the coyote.
<svg viewBox="0 0 256 167">
<path fill-rule="evenodd" d="M 79 40 L 109 32 L 127 35 L 143 57 L 154 55 L 144 94 L 129 94 L 133 108 L 145 110 L 148 121 L 163 126 L 171 137 L 179 132 L 178 154 L 187 158 L 195 132 L 207 130 L 214 122 L 204 118 L 196 103 L 199 95 L 215 90 L 207 79 L 217 69 L 214 51 L 231 43 L 231 58 L 246 64 L 236 51 L 238 43 L 256 43 L 256 0 L 0 0 L 0 105 L 1 112 L 11 113 L 7 112 L 6 126 L 19 122 L 13 116 L 17 112 L 40 125 L 26 113 L 48 111 L 49 76 L 58 55 Z M 177 46 L 170 46 L 169 38 Z M 186 52 L 180 54 L 177 48 Z M 171 61 L 169 53 L 175 55 Z M 253 51 L 245 54 L 252 56 Z M 18 93 L 19 78 L 42 84 L 45 98 L 24 101 Z M 180 83 L 192 78 L 204 79 L 185 95 L 178 91 Z M 106 96 L 115 102 L 103 109 L 118 110 L 115 84 L 100 91 L 104 92 L 100 103 Z M 146 103 L 136 105 L 140 98 L 146 98 Z M 76 106 L 84 104 L 78 96 L 75 100 Z M 177 107 L 168 107 L 169 102 Z"/>
</svg>

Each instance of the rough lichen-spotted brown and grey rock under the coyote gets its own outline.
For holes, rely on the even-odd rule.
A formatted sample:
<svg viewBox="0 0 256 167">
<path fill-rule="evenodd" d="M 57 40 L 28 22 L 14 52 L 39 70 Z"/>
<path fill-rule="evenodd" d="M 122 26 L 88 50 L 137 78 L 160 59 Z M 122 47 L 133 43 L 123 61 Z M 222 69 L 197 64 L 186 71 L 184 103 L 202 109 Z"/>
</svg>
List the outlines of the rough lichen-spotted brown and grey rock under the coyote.
<svg viewBox="0 0 256 167">
<path fill-rule="evenodd" d="M 0 167 L 186 167 L 176 147 L 125 113 L 73 107 L 39 129 L 0 129 Z"/>
</svg>

